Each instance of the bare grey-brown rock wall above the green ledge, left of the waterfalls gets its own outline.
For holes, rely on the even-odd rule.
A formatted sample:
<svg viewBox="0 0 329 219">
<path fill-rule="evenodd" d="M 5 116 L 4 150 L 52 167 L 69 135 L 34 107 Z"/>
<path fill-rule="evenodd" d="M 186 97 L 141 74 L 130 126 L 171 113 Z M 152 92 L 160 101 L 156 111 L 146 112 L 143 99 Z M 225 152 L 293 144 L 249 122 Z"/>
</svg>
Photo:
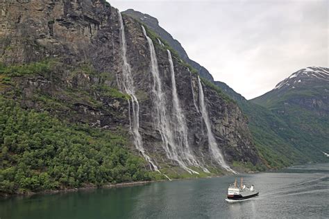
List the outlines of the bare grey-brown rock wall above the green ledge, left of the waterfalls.
<svg viewBox="0 0 329 219">
<path fill-rule="evenodd" d="M 113 71 L 119 42 L 117 12 L 102 1 L 3 1 L 1 62 L 65 57 Z"/>
</svg>

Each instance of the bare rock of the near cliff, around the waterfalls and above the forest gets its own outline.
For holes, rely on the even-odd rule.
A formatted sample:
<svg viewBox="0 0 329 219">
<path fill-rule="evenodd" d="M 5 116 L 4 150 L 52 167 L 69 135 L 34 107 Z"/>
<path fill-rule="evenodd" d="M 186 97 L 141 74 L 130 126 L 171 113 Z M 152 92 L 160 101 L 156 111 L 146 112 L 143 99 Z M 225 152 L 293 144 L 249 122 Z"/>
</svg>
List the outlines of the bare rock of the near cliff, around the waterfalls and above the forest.
<svg viewBox="0 0 329 219">
<path fill-rule="evenodd" d="M 131 97 L 118 91 L 118 82 L 123 77 L 123 42 L 117 9 L 96 0 L 5 1 L 0 3 L 0 8 L 0 62 L 14 69 L 8 70 L 11 75 L 4 73 L 11 76 L 12 82 L 0 87 L 3 96 L 15 99 L 26 108 L 47 110 L 69 122 L 123 132 L 130 130 L 134 119 Z M 155 125 L 153 113 L 157 109 L 152 92 L 155 79 L 142 26 L 128 16 L 123 17 L 123 23 L 126 58 L 140 107 L 139 132 L 144 152 L 160 169 L 181 167 L 180 154 L 176 159 L 168 155 L 163 136 Z M 167 48 L 156 38 L 152 40 L 168 114 L 165 119 L 169 127 L 175 128 Z M 187 124 L 189 150 L 200 166 L 218 168 L 220 165 L 210 152 L 208 131 L 199 111 L 198 78 L 175 55 L 173 65 L 178 99 Z M 31 71 L 17 71 L 20 68 Z M 239 107 L 208 83 L 203 82 L 202 87 L 210 126 L 224 159 L 228 164 L 233 161 L 260 164 Z M 134 147 L 135 136 L 130 134 L 130 138 L 131 150 L 142 153 Z M 174 134 L 173 138 L 173 142 L 179 141 L 178 135 Z M 169 151 L 173 148 L 175 146 L 169 145 Z"/>
</svg>

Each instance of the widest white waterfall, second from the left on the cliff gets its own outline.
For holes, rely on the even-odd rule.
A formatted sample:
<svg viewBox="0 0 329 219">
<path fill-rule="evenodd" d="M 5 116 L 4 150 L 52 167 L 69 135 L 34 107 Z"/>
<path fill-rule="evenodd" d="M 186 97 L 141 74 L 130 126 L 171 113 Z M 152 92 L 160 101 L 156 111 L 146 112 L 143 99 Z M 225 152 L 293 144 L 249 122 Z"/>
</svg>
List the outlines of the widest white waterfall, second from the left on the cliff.
<svg viewBox="0 0 329 219">
<path fill-rule="evenodd" d="M 156 58 L 155 49 L 151 38 L 146 34 L 144 26 L 142 26 L 144 36 L 149 43 L 149 50 L 151 54 L 151 73 L 153 78 L 153 104 L 155 107 L 155 113 L 153 119 L 155 121 L 156 128 L 160 132 L 162 139 L 162 148 L 164 148 L 166 155 L 169 159 L 173 159 L 178 163 L 180 167 L 185 169 L 189 173 L 196 173 L 194 170 L 187 167 L 183 161 L 185 153 L 183 148 L 180 148 L 175 141 L 175 135 L 171 126 L 171 118 L 167 112 L 167 103 L 165 101 L 165 94 L 162 91 L 162 82 L 160 79 L 158 60 Z"/>
</svg>

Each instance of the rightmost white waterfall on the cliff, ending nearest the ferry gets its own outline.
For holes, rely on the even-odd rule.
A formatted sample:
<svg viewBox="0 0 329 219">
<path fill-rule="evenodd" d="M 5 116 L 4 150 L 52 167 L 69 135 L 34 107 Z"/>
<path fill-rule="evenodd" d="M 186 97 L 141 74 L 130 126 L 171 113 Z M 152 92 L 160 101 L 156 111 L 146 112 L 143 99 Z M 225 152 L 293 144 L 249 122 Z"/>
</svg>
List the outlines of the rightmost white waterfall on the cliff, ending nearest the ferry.
<svg viewBox="0 0 329 219">
<path fill-rule="evenodd" d="M 199 83 L 199 102 L 200 102 L 200 110 L 201 110 L 201 116 L 203 118 L 203 121 L 205 122 L 205 127 L 207 128 L 207 134 L 208 134 L 208 144 L 209 149 L 212 154 L 212 157 L 226 170 L 235 173 L 234 170 L 226 164 L 223 155 L 221 154 L 221 150 L 218 148 L 216 140 L 214 139 L 214 134 L 212 134 L 210 120 L 207 112 L 207 108 L 205 107 L 205 97 L 203 94 L 203 88 L 201 85 L 200 77 L 198 76 L 198 83 Z"/>
</svg>

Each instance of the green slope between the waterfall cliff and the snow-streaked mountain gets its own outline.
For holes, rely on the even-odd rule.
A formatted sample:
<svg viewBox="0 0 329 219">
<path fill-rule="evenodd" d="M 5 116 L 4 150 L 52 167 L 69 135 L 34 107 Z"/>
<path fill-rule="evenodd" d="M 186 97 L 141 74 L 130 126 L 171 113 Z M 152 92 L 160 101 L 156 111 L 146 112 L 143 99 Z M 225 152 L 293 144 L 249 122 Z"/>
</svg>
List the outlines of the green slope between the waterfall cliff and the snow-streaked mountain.
<svg viewBox="0 0 329 219">
<path fill-rule="evenodd" d="M 269 168 L 283 168 L 310 161 L 283 136 L 292 136 L 287 124 L 269 110 L 246 101 L 238 101 L 248 117 L 248 127 L 260 156 Z"/>
</svg>

